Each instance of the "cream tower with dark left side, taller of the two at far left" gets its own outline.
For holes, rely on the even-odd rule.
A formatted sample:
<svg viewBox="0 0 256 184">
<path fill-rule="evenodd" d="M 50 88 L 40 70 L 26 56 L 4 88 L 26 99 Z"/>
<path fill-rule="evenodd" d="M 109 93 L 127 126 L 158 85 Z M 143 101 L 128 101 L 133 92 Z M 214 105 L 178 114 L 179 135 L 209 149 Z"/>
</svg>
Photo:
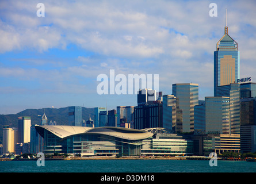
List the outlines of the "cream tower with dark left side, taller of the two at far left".
<svg viewBox="0 0 256 184">
<path fill-rule="evenodd" d="M 18 143 L 30 142 L 31 118 L 29 116 L 18 117 Z"/>
</svg>

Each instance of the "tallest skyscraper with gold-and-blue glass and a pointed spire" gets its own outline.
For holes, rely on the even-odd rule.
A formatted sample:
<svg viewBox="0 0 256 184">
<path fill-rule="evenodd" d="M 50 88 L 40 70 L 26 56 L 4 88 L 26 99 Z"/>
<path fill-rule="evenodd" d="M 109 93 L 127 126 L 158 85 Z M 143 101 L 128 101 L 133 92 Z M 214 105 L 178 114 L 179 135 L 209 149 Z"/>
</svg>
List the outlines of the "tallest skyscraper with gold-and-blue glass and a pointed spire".
<svg viewBox="0 0 256 184">
<path fill-rule="evenodd" d="M 214 96 L 217 96 L 217 87 L 230 85 L 240 78 L 240 52 L 238 43 L 228 34 L 227 10 L 224 35 L 217 42 L 214 52 Z"/>
</svg>

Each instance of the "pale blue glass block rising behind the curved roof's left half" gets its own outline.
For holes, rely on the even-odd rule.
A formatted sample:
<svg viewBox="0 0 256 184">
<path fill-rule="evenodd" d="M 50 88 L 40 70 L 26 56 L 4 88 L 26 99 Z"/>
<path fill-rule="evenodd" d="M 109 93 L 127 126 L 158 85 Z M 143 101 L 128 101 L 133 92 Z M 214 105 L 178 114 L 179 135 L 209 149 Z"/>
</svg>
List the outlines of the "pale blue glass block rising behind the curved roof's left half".
<svg viewBox="0 0 256 184">
<path fill-rule="evenodd" d="M 70 126 L 82 126 L 82 107 L 68 107 L 68 124 Z"/>
</svg>

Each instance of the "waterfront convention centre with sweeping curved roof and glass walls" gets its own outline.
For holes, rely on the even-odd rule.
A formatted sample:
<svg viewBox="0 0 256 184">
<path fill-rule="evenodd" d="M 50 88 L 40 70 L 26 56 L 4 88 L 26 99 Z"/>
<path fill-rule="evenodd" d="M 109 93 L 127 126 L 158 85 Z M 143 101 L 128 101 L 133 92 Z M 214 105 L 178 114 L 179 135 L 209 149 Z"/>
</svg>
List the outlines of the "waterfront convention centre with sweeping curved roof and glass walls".
<svg viewBox="0 0 256 184">
<path fill-rule="evenodd" d="M 81 156 L 135 156 L 141 154 L 143 140 L 152 133 L 120 127 L 36 126 L 44 137 L 44 154 Z"/>
</svg>

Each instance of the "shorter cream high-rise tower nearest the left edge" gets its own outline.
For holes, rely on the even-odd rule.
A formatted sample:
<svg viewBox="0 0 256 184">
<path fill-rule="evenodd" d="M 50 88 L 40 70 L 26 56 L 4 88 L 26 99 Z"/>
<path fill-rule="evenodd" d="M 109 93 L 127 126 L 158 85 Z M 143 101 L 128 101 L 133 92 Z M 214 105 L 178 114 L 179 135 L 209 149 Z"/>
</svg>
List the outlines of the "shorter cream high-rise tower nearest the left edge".
<svg viewBox="0 0 256 184">
<path fill-rule="evenodd" d="M 3 153 L 14 153 L 14 130 L 3 126 Z"/>
</svg>

